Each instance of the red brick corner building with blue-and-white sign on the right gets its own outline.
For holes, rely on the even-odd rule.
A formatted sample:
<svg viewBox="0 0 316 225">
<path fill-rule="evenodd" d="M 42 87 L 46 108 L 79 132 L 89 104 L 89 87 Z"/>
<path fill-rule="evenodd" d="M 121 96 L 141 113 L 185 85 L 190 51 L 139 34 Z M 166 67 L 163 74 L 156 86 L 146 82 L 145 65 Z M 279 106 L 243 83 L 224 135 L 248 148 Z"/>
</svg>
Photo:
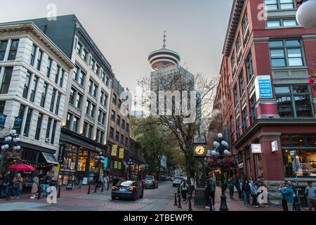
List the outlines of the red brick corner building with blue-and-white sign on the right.
<svg viewBox="0 0 316 225">
<path fill-rule="evenodd" d="M 237 173 L 263 177 L 270 192 L 295 180 L 294 162 L 301 186 L 316 181 L 316 89 L 309 84 L 316 29 L 296 23 L 297 7 L 295 0 L 233 2 L 216 94 Z"/>
</svg>

